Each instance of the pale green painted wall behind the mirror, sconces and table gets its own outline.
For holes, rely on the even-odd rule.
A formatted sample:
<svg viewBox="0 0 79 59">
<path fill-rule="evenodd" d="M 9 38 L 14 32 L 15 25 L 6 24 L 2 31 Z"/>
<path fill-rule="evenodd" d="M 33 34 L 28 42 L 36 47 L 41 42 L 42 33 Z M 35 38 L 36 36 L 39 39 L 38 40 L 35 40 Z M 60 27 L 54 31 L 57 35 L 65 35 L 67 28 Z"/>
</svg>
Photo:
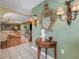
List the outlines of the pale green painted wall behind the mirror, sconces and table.
<svg viewBox="0 0 79 59">
<path fill-rule="evenodd" d="M 32 14 L 38 15 L 39 18 L 44 3 L 45 2 L 42 2 L 33 8 Z M 51 9 L 62 7 L 66 10 L 64 4 L 64 0 L 50 0 L 49 2 Z M 40 37 L 40 35 L 41 28 L 38 22 L 37 27 L 33 26 L 33 45 L 35 47 L 35 39 Z M 57 40 L 57 59 L 79 59 L 79 15 L 70 27 L 65 22 L 57 19 L 51 35 Z M 61 49 L 65 50 L 64 54 L 61 54 Z M 52 49 L 49 49 L 49 55 L 53 56 Z"/>
</svg>

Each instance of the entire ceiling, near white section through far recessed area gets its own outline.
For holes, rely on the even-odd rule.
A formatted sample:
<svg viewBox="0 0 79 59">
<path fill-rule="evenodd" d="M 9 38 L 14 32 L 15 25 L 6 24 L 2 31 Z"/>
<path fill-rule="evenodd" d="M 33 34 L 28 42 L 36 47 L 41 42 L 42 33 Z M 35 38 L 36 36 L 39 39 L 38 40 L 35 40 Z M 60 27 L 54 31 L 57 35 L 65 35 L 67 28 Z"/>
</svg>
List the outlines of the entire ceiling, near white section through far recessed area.
<svg viewBox="0 0 79 59">
<path fill-rule="evenodd" d="M 44 0 L 0 0 L 0 21 L 24 22 L 28 19 L 28 15 L 31 15 L 32 8 L 43 1 Z M 9 17 L 9 20 L 7 17 Z"/>
</svg>

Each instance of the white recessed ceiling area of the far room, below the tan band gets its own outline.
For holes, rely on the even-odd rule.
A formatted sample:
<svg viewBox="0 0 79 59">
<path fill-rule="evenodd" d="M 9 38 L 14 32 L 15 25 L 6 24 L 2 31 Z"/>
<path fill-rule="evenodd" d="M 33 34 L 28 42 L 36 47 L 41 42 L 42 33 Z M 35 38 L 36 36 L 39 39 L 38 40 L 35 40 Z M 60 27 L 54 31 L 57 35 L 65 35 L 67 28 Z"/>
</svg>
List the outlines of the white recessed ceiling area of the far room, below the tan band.
<svg viewBox="0 0 79 59">
<path fill-rule="evenodd" d="M 2 21 L 10 22 L 10 23 L 23 23 L 23 22 L 26 22 L 26 20 L 29 19 L 28 16 L 23 16 L 23 15 L 11 13 L 11 12 L 3 15 L 2 18 L 3 18 Z"/>
</svg>

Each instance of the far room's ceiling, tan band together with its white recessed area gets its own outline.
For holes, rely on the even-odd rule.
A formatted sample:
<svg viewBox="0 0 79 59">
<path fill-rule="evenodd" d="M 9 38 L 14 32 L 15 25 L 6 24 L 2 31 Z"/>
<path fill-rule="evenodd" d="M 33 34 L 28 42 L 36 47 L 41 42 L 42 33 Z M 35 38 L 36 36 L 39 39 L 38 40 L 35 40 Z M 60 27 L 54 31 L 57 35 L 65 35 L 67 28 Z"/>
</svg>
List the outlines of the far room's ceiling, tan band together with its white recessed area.
<svg viewBox="0 0 79 59">
<path fill-rule="evenodd" d="M 14 12 L 11 9 L 0 7 L 0 22 L 23 23 L 29 16 Z"/>
</svg>

